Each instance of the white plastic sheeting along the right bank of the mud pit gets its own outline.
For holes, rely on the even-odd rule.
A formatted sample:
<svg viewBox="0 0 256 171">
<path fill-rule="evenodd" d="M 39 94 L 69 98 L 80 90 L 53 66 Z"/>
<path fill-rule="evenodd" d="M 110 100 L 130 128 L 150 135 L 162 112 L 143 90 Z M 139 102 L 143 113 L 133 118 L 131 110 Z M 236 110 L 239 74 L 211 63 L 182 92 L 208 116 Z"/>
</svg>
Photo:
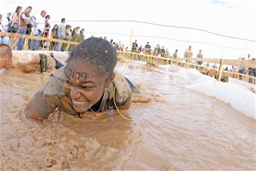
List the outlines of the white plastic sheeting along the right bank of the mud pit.
<svg viewBox="0 0 256 171">
<path fill-rule="evenodd" d="M 160 68 L 175 72 L 176 77 L 181 77 L 187 80 L 190 84 L 185 86 L 208 96 L 218 98 L 227 104 L 230 104 L 234 109 L 248 115 L 251 118 L 256 118 L 256 95 L 247 87 L 239 83 L 223 83 L 218 82 L 212 77 L 201 74 L 196 69 L 176 68 L 174 65 L 160 66 Z M 170 69 L 168 69 L 170 68 Z M 173 73 L 172 73 L 173 74 Z"/>
</svg>

